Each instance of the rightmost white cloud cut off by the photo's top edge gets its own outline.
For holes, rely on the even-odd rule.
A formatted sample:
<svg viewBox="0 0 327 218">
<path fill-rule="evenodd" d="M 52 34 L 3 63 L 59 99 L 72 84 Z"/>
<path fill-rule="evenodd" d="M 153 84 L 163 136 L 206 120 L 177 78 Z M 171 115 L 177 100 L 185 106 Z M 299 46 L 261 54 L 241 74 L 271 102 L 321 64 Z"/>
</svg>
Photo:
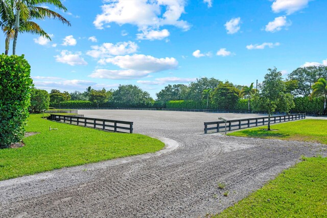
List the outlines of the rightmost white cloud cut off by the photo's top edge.
<svg viewBox="0 0 327 218">
<path fill-rule="evenodd" d="M 288 15 L 306 8 L 310 0 L 275 0 L 271 9 L 275 13 L 285 11 Z"/>
</svg>

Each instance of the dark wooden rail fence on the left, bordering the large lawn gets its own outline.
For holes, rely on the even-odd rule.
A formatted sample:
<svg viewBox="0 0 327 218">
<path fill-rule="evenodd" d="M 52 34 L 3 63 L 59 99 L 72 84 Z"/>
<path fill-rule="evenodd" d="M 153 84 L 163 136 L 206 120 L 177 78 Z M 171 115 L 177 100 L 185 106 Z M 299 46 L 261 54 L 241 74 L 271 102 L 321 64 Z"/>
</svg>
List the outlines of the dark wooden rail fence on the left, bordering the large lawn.
<svg viewBox="0 0 327 218">
<path fill-rule="evenodd" d="M 113 132 L 133 133 L 133 122 L 128 121 L 66 116 L 58 114 L 50 114 L 50 119 L 61 123 L 90 127 L 94 129 L 102 129 Z"/>
</svg>

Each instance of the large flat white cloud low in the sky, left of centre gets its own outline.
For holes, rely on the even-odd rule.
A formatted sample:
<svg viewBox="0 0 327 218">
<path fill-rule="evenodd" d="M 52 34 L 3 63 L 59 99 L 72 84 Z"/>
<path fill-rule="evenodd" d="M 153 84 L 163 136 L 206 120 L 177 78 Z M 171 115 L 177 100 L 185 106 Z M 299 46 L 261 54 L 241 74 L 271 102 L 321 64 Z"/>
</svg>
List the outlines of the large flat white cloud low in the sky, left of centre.
<svg viewBox="0 0 327 218">
<path fill-rule="evenodd" d="M 96 69 L 89 77 L 103 79 L 137 79 L 177 67 L 175 58 L 155 58 L 146 55 L 125 55 L 100 60 L 100 63 L 111 63 L 122 69 Z"/>
</svg>

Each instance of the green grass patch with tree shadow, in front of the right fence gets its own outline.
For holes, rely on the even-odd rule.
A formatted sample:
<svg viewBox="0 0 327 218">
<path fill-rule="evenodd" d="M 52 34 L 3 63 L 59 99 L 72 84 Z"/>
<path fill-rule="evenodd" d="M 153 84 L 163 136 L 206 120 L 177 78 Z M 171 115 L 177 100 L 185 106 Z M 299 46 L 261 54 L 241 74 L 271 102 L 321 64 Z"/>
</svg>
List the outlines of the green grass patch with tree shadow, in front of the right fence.
<svg viewBox="0 0 327 218">
<path fill-rule="evenodd" d="M 304 119 L 295 122 L 272 125 L 271 129 L 273 131 L 267 131 L 265 129 L 267 129 L 267 126 L 240 130 L 227 135 L 313 141 L 327 144 L 327 120 Z"/>
</svg>

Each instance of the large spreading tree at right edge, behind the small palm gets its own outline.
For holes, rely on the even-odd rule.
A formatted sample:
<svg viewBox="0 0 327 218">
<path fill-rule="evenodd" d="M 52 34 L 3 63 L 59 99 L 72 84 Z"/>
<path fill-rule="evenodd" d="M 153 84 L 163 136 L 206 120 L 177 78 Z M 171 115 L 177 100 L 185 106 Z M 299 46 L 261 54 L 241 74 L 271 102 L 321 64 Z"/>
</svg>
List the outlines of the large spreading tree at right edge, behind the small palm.
<svg viewBox="0 0 327 218">
<path fill-rule="evenodd" d="M 298 81 L 298 88 L 294 90 L 294 94 L 302 96 L 310 96 L 312 85 L 319 78 L 327 78 L 327 66 L 299 67 L 288 76 L 288 79 Z"/>
</svg>

